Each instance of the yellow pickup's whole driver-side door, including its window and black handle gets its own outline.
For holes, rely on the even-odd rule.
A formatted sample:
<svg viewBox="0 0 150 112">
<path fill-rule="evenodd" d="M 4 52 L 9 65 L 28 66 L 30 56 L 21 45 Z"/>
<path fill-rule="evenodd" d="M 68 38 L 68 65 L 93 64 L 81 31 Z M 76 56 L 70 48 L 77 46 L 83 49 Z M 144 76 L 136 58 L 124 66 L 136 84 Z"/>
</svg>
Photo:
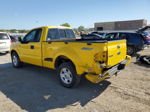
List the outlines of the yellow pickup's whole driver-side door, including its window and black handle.
<svg viewBox="0 0 150 112">
<path fill-rule="evenodd" d="M 30 31 L 20 44 L 19 52 L 23 62 L 42 66 L 41 37 L 42 29 Z"/>
</svg>

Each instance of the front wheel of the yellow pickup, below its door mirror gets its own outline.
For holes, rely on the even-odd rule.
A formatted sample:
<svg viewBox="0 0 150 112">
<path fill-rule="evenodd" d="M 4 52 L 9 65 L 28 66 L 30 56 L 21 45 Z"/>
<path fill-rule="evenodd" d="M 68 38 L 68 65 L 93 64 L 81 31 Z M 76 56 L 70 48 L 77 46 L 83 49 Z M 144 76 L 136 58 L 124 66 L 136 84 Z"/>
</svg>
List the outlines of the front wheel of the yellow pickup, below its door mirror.
<svg viewBox="0 0 150 112">
<path fill-rule="evenodd" d="M 12 65 L 15 68 L 20 68 L 22 67 L 22 62 L 20 61 L 20 58 L 16 52 L 13 52 L 11 55 L 11 60 L 12 60 Z"/>
</svg>

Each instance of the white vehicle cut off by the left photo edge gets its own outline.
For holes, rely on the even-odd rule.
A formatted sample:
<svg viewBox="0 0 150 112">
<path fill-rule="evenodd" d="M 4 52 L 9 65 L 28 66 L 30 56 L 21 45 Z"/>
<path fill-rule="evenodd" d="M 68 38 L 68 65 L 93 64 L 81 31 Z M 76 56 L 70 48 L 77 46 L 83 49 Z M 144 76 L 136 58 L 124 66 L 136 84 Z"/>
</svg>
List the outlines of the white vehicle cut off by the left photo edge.
<svg viewBox="0 0 150 112">
<path fill-rule="evenodd" d="M 5 32 L 0 32 L 0 53 L 1 52 L 9 52 L 11 45 L 10 36 Z"/>
</svg>

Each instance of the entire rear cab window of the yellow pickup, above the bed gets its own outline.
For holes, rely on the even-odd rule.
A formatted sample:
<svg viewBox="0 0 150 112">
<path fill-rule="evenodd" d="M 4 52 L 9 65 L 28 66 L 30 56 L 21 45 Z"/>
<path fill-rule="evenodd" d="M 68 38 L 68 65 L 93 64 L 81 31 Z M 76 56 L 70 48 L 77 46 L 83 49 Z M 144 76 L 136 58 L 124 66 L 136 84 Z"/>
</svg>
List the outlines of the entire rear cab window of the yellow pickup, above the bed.
<svg viewBox="0 0 150 112">
<path fill-rule="evenodd" d="M 49 29 L 47 40 L 73 39 L 74 32 L 71 29 Z"/>
</svg>

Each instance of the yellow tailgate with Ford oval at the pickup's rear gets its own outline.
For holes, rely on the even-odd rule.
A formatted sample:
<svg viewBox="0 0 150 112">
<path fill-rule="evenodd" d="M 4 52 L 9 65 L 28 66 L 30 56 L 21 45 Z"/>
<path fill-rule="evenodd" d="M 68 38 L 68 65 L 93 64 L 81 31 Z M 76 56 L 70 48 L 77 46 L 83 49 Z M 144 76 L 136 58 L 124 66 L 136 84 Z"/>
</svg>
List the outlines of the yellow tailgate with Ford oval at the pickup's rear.
<svg viewBox="0 0 150 112">
<path fill-rule="evenodd" d="M 126 40 L 108 42 L 107 66 L 114 66 L 126 58 Z"/>
</svg>

